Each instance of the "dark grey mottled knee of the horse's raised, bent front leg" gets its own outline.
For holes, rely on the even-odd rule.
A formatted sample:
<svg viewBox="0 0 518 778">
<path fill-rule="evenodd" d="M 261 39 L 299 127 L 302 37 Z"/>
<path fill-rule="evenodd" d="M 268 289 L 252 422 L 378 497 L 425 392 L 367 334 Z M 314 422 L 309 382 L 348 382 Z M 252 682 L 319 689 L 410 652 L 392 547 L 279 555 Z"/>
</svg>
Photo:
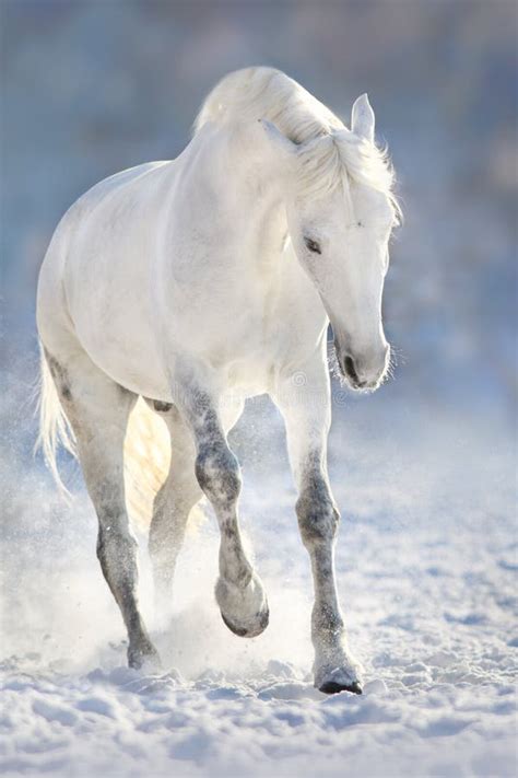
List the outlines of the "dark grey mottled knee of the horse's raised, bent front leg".
<svg viewBox="0 0 518 778">
<path fill-rule="evenodd" d="M 239 465 L 226 445 L 200 448 L 196 460 L 196 477 L 211 502 L 231 507 L 237 501 L 242 487 Z"/>
</svg>

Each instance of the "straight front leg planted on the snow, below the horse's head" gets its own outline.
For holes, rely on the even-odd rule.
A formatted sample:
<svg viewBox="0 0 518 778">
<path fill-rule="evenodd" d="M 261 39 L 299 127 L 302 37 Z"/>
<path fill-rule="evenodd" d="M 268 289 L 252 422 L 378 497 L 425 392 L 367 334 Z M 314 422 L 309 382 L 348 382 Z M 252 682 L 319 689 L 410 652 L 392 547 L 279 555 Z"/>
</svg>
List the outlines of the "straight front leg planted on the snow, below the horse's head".
<svg viewBox="0 0 518 778">
<path fill-rule="evenodd" d="M 327 471 L 331 411 L 326 364 L 318 361 L 309 365 L 303 386 L 297 383 L 301 382 L 293 379 L 284 381 L 275 402 L 286 426 L 290 463 L 298 491 L 298 527 L 311 564 L 315 686 L 326 694 L 342 690 L 361 694 L 361 666 L 348 648 L 334 572 L 340 514 Z"/>
</svg>

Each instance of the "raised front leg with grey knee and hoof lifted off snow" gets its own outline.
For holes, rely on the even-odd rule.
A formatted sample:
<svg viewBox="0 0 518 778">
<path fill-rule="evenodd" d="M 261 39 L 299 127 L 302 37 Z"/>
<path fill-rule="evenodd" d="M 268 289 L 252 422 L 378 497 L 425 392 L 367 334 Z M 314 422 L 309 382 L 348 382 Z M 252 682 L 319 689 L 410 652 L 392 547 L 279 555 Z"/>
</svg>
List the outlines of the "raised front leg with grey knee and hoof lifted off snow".
<svg viewBox="0 0 518 778">
<path fill-rule="evenodd" d="M 226 442 L 215 402 L 208 393 L 189 391 L 184 405 L 196 442 L 196 477 L 211 502 L 220 526 L 220 577 L 215 599 L 223 622 L 235 635 L 254 638 L 268 626 L 262 583 L 243 547 L 237 514 L 242 477 Z"/>
</svg>

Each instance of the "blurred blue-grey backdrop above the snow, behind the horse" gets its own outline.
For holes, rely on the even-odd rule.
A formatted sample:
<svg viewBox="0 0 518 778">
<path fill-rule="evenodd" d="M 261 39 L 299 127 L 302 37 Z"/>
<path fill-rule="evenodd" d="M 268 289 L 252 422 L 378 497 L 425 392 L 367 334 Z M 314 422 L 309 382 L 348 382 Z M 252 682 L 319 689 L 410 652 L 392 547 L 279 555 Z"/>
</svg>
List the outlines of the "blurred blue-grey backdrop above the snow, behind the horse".
<svg viewBox="0 0 518 778">
<path fill-rule="evenodd" d="M 397 386 L 368 403 L 390 414 L 403 393 L 427 405 L 431 423 L 454 406 L 473 423 L 486 414 L 510 423 L 511 0 L 3 0 L 1 21 L 2 406 L 16 440 L 21 425 L 34 433 L 24 397 L 35 369 L 35 287 L 61 214 L 101 178 L 177 155 L 215 81 L 262 63 L 346 123 L 367 91 L 378 139 L 389 143 L 405 225 L 395 235 L 385 317 L 403 359 Z"/>
</svg>

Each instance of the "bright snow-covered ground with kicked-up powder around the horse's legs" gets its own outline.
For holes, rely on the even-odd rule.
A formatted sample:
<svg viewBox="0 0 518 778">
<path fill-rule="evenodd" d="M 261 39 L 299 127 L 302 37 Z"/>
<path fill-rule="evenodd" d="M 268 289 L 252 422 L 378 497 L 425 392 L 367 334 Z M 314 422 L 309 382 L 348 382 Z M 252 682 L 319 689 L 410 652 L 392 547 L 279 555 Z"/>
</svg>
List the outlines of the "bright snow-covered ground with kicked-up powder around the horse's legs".
<svg viewBox="0 0 518 778">
<path fill-rule="evenodd" d="M 189 535 L 172 614 L 158 620 L 142 554 L 160 676 L 125 666 L 84 495 L 67 508 L 42 473 L 23 489 L 8 478 L 0 771 L 515 775 L 510 437 L 497 419 L 473 423 L 429 405 L 387 418 L 386 407 L 377 396 L 351 400 L 331 436 L 340 591 L 365 665 L 362 697 L 311 686 L 308 564 L 279 419 L 262 403 L 234 448 L 270 626 L 246 641 L 223 625 L 209 516 Z"/>
</svg>

